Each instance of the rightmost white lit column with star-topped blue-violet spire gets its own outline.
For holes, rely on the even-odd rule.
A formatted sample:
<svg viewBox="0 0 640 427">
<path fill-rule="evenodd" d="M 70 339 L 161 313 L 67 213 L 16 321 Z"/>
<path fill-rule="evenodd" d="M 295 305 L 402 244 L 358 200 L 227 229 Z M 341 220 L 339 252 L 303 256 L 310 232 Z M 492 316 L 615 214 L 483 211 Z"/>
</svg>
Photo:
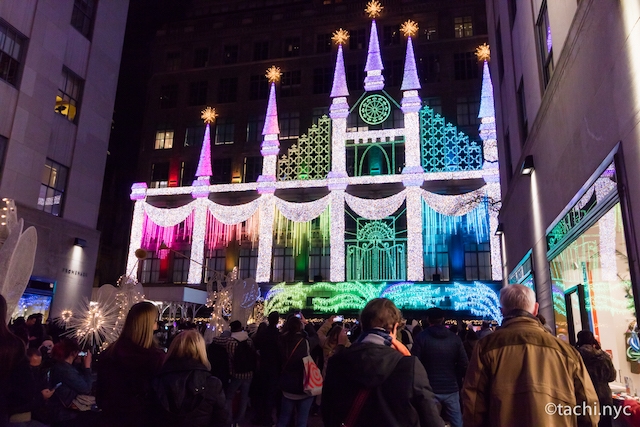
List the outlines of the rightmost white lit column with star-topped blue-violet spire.
<svg viewBox="0 0 640 427">
<path fill-rule="evenodd" d="M 489 73 L 488 61 L 491 58 L 489 46 L 485 43 L 476 49 L 479 61 L 484 61 L 482 71 L 482 92 L 480 97 L 480 139 L 482 139 L 482 176 L 487 183 L 487 197 L 491 201 L 489 207 L 489 227 L 491 229 L 491 277 L 502 280 L 502 251 L 498 230 L 498 213 L 502 195 L 500 192 L 500 175 L 498 165 L 498 141 L 496 137 L 496 114 L 493 102 L 493 83 Z"/>
</svg>

